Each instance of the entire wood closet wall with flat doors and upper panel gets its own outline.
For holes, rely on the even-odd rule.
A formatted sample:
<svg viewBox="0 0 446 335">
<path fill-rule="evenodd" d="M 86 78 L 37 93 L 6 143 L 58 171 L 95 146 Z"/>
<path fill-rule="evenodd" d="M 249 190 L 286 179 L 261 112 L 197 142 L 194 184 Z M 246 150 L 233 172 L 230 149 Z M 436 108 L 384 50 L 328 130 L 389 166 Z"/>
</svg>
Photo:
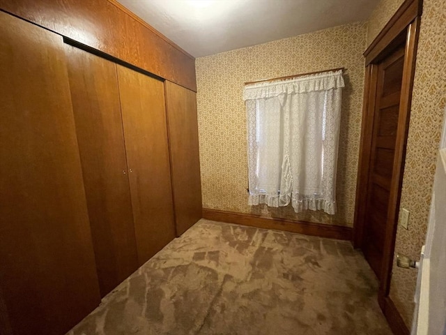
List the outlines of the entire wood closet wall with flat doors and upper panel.
<svg viewBox="0 0 446 335">
<path fill-rule="evenodd" d="M 1 335 L 66 334 L 201 218 L 193 57 L 88 3 L 0 0 Z"/>
</svg>

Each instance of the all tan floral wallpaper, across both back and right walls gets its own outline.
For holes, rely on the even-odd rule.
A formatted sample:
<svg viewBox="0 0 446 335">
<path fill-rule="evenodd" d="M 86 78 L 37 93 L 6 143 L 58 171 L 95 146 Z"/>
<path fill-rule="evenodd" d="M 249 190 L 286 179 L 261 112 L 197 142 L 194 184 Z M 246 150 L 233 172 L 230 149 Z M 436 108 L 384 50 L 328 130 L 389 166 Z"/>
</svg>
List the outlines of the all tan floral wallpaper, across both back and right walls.
<svg viewBox="0 0 446 335">
<path fill-rule="evenodd" d="M 367 24 L 347 24 L 202 57 L 196 61 L 197 108 L 203 207 L 353 225 L 360 139 L 364 59 L 362 52 L 401 6 L 381 0 Z M 395 251 L 420 257 L 429 216 L 433 174 L 446 105 L 446 1 L 424 0 L 408 133 L 401 207 L 410 211 L 409 229 L 398 227 Z M 348 50 L 348 52 L 346 52 Z M 294 214 L 291 208 L 247 206 L 247 147 L 244 82 L 298 73 L 346 68 L 347 87 L 339 141 L 339 213 Z M 392 270 L 390 297 L 408 327 L 413 318 L 417 271 Z"/>
</svg>

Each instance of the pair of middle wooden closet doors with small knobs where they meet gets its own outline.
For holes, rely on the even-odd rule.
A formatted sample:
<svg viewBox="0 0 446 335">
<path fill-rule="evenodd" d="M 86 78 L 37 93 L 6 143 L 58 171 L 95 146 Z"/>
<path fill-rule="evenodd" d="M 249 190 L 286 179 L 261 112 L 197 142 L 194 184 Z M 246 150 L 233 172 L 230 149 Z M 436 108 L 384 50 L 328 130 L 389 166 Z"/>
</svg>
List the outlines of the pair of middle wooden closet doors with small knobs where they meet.
<svg viewBox="0 0 446 335">
<path fill-rule="evenodd" d="M 164 84 L 70 45 L 66 55 L 105 296 L 175 237 Z"/>
</svg>

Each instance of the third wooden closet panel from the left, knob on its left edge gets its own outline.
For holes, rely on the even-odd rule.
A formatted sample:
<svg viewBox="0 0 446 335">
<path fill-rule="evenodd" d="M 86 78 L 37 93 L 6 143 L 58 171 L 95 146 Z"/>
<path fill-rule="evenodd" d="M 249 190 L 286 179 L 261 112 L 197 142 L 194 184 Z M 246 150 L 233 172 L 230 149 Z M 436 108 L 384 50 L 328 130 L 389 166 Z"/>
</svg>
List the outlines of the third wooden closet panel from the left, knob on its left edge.
<svg viewBox="0 0 446 335">
<path fill-rule="evenodd" d="M 117 65 L 139 265 L 175 237 L 164 85 Z"/>
</svg>

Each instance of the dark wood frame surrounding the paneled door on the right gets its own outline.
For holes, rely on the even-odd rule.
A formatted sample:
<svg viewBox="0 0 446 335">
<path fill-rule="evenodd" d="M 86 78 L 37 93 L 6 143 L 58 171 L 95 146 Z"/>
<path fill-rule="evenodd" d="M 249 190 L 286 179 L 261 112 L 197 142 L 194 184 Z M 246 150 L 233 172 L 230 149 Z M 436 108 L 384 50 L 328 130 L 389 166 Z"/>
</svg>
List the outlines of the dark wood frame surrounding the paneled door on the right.
<svg viewBox="0 0 446 335">
<path fill-rule="evenodd" d="M 397 146 L 394 154 L 394 170 L 392 170 L 392 185 L 390 186 L 390 202 L 387 211 L 387 228 L 385 234 L 385 246 L 383 255 L 382 271 L 380 276 L 380 288 L 378 290 L 378 301 L 383 313 L 389 321 L 392 330 L 398 335 L 409 334 L 401 315 L 390 299 L 390 281 L 392 276 L 392 266 L 394 257 L 394 246 L 397 232 L 399 202 L 401 199 L 401 186 L 403 179 L 403 165 L 406 156 L 406 140 L 408 135 L 408 124 L 410 116 L 410 107 L 412 101 L 413 80 L 415 76 L 416 52 L 418 36 L 420 34 L 420 16 L 422 15 L 422 0 L 406 0 L 393 15 L 384 29 L 378 34 L 375 40 L 364 52 L 366 66 L 373 66 L 373 62 L 379 61 L 387 50 L 395 46 L 401 34 L 406 30 L 406 56 L 403 68 L 403 84 L 401 87 L 401 99 L 399 105 L 399 125 L 397 128 Z M 371 81 L 366 82 L 365 90 L 372 89 Z M 364 111 L 368 112 L 367 100 L 364 95 Z M 370 96 L 368 97 L 368 99 Z M 367 193 L 367 187 L 364 184 L 363 169 L 367 169 L 367 133 L 364 133 L 364 115 L 362 121 L 362 141 L 360 147 L 360 163 L 357 177 L 357 196 L 355 204 L 355 225 L 354 225 L 354 246 L 360 247 L 363 235 L 364 203 L 362 202 L 362 192 Z M 364 191 L 363 191 L 364 190 Z"/>
</svg>

